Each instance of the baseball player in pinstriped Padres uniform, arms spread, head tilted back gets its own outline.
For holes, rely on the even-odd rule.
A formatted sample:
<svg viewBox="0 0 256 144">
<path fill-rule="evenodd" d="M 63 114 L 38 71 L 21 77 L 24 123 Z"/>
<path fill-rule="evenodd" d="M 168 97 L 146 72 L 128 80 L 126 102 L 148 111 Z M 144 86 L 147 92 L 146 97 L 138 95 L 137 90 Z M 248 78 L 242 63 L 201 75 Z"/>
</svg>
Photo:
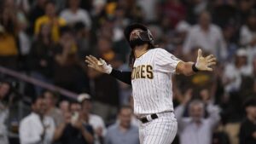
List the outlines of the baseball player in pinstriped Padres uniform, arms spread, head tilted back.
<svg viewBox="0 0 256 144">
<path fill-rule="evenodd" d="M 131 84 L 134 113 L 141 121 L 140 143 L 171 144 L 177 133 L 177 120 L 173 113 L 172 74 L 192 75 L 199 71 L 212 71 L 216 64 L 213 55 L 184 62 L 165 49 L 154 47 L 154 38 L 146 26 L 132 24 L 125 28 L 125 38 L 131 46 L 132 72 L 119 72 L 105 60 L 86 56 L 88 66 Z"/>
</svg>

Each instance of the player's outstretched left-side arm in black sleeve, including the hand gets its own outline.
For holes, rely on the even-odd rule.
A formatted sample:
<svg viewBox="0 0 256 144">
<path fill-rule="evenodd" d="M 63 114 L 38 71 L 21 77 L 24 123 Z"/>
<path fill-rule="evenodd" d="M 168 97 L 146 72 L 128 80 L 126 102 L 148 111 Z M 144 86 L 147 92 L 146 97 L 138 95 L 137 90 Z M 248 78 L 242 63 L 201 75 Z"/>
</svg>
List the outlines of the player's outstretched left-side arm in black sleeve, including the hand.
<svg viewBox="0 0 256 144">
<path fill-rule="evenodd" d="M 89 67 L 95 69 L 96 71 L 110 74 L 111 76 L 119 79 L 125 84 L 131 85 L 131 72 L 120 72 L 118 70 L 114 70 L 112 66 L 106 63 L 105 60 L 98 60 L 92 55 L 86 56 L 85 62 L 88 64 Z"/>
</svg>

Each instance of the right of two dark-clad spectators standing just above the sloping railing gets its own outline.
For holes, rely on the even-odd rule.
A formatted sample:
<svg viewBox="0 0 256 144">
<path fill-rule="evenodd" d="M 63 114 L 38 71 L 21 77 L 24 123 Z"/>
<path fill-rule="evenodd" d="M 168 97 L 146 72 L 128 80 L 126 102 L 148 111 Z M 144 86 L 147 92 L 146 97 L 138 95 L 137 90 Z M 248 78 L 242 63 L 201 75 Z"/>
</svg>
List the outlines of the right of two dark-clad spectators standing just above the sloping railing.
<svg viewBox="0 0 256 144">
<path fill-rule="evenodd" d="M 84 70 L 79 63 L 77 51 L 72 29 L 68 26 L 62 27 L 60 43 L 55 49 L 54 82 L 64 89 L 81 92 L 87 81 L 84 79 Z"/>
</svg>

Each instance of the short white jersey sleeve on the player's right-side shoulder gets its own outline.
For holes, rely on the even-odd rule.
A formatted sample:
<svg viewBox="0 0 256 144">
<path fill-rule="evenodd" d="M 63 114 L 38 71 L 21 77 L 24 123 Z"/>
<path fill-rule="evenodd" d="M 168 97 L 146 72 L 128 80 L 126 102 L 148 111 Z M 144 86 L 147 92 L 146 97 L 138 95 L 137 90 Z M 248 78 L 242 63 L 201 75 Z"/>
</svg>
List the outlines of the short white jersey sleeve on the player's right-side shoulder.
<svg viewBox="0 0 256 144">
<path fill-rule="evenodd" d="M 181 61 L 165 49 L 158 49 L 155 55 L 155 71 L 177 73 L 177 66 Z"/>
</svg>

